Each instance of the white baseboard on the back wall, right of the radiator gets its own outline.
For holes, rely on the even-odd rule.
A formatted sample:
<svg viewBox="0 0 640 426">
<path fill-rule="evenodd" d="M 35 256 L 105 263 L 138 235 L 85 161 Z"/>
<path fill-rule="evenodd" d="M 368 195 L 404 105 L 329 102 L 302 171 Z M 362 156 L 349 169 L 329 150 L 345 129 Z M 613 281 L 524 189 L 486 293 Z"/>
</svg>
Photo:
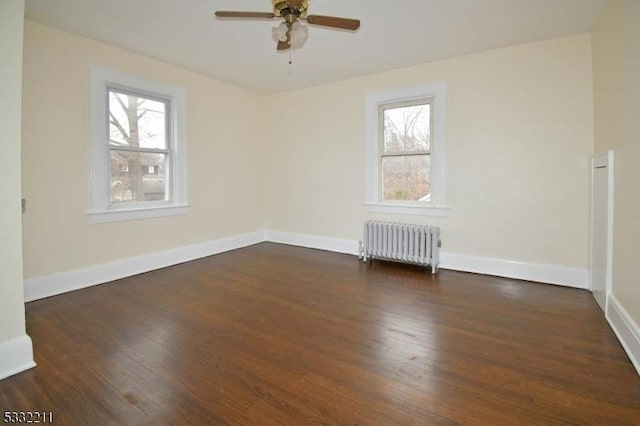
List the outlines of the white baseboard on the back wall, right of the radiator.
<svg viewBox="0 0 640 426">
<path fill-rule="evenodd" d="M 440 253 L 440 267 L 455 271 L 589 289 L 589 271 L 566 266 L 442 252 Z"/>
</svg>

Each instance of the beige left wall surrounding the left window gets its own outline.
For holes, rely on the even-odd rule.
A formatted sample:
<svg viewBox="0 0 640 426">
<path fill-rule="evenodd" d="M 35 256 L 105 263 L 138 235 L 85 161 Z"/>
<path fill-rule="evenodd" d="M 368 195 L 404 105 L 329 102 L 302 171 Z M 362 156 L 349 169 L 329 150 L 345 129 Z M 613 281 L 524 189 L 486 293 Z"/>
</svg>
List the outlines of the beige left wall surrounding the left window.
<svg viewBox="0 0 640 426">
<path fill-rule="evenodd" d="M 89 67 L 187 93 L 189 213 L 90 225 Z M 25 22 L 25 277 L 44 276 L 264 229 L 262 98 L 130 51 Z M 19 180 L 16 180 L 19 182 Z"/>
</svg>

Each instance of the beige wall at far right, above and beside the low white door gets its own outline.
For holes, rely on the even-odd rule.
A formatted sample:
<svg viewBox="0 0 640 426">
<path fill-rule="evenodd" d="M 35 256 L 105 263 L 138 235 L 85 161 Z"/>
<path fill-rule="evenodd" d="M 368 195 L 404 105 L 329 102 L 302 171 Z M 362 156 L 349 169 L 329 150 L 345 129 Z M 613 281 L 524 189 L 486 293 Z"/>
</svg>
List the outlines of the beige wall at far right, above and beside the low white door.
<svg viewBox="0 0 640 426">
<path fill-rule="evenodd" d="M 610 0 L 593 33 L 595 150 L 615 151 L 612 294 L 640 324 L 640 2 Z"/>
</svg>

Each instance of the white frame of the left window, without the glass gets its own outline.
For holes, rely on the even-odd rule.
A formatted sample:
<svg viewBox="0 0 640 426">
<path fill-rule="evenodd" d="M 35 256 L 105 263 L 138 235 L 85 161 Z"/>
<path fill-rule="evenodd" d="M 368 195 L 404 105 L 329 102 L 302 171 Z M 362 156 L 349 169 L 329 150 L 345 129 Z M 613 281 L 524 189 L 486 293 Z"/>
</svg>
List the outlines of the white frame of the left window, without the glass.
<svg viewBox="0 0 640 426">
<path fill-rule="evenodd" d="M 111 162 L 108 145 L 110 89 L 168 101 L 168 201 L 111 203 Z M 118 222 L 186 214 L 188 203 L 184 89 L 92 65 L 89 98 L 89 222 Z"/>
</svg>

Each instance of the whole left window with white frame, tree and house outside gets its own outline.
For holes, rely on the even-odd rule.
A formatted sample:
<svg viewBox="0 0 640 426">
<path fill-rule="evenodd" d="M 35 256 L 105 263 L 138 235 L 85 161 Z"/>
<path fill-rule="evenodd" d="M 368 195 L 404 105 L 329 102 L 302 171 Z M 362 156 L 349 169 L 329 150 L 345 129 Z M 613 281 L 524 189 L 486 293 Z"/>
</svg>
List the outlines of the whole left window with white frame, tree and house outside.
<svg viewBox="0 0 640 426">
<path fill-rule="evenodd" d="M 184 91 L 91 68 L 92 223 L 186 213 Z"/>
</svg>

